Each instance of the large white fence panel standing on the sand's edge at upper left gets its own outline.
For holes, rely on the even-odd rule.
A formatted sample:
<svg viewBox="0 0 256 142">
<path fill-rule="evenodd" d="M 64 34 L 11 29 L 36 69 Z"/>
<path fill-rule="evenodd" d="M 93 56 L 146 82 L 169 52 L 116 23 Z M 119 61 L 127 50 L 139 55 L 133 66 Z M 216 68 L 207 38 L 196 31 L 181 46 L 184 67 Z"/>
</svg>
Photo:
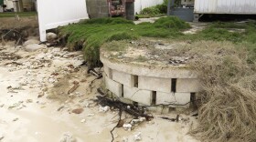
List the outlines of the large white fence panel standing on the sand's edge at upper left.
<svg viewBox="0 0 256 142">
<path fill-rule="evenodd" d="M 46 30 L 87 19 L 85 0 L 37 0 L 40 41 L 46 41 Z"/>
</svg>

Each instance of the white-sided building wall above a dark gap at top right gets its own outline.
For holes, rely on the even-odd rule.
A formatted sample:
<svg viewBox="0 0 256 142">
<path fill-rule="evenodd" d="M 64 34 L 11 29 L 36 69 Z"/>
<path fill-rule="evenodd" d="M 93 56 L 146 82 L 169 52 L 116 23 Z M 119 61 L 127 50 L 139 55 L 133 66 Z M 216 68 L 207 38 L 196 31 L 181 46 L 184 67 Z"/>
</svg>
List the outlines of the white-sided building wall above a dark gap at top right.
<svg viewBox="0 0 256 142">
<path fill-rule="evenodd" d="M 256 0 L 195 0 L 195 13 L 256 15 Z"/>
</svg>

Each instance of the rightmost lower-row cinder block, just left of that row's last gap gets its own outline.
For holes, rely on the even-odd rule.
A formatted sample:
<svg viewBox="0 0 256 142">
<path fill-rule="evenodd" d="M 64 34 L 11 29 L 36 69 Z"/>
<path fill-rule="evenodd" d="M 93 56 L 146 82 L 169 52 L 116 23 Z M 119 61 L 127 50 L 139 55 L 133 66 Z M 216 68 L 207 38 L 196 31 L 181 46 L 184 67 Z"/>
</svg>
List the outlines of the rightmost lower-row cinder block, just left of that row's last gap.
<svg viewBox="0 0 256 142">
<path fill-rule="evenodd" d="M 190 102 L 190 93 L 175 93 L 176 104 L 177 105 L 186 105 L 181 107 L 189 107 Z"/>
</svg>

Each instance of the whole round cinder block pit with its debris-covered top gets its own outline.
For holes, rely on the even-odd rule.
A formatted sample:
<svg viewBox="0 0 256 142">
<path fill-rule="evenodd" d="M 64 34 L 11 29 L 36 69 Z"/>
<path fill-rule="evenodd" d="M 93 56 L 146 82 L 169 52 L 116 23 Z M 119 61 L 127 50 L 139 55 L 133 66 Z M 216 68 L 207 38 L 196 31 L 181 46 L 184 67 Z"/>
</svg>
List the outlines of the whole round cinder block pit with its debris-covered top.
<svg viewBox="0 0 256 142">
<path fill-rule="evenodd" d="M 115 50 L 114 46 L 119 44 L 123 47 Z M 195 101 L 200 85 L 197 74 L 186 66 L 187 57 L 166 57 L 172 51 L 171 46 L 183 43 L 135 41 L 119 44 L 112 42 L 101 47 L 104 83 L 113 95 L 144 106 L 171 108 L 188 108 Z"/>
</svg>

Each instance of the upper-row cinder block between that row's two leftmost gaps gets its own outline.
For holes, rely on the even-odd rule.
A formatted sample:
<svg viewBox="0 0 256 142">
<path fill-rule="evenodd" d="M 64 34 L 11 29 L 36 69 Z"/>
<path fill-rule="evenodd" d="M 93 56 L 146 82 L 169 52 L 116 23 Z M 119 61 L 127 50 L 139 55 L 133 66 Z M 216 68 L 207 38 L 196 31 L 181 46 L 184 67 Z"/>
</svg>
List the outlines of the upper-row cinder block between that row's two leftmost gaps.
<svg viewBox="0 0 256 142">
<path fill-rule="evenodd" d="M 112 80 L 123 84 L 124 86 L 133 87 L 134 79 L 133 75 L 112 70 Z"/>
</svg>

